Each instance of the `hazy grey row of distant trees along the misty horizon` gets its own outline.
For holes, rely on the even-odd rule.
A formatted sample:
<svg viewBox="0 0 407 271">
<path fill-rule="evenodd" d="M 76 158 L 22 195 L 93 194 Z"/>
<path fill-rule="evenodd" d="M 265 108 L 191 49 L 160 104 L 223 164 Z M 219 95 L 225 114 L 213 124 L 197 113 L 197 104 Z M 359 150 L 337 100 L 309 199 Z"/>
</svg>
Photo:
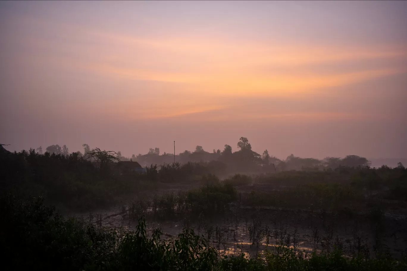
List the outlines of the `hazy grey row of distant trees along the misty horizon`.
<svg viewBox="0 0 407 271">
<path fill-rule="evenodd" d="M 150 147 L 147 154 L 133 154 L 131 157 L 125 157 L 119 150 L 117 152 L 106 152 L 98 148 L 91 149 L 88 144 L 83 144 L 83 154 L 76 152 L 79 157 L 91 160 L 103 166 L 105 159 L 109 162 L 113 161 L 135 161 L 142 167 L 150 167 L 158 165 L 159 167 L 166 164 L 173 164 L 175 162 L 180 165 L 186 163 L 217 163 L 220 168 L 228 168 L 232 172 L 278 172 L 287 170 L 323 170 L 323 169 L 336 169 L 338 167 L 369 167 L 370 161 L 361 156 L 348 155 L 344 158 L 341 157 L 326 157 L 322 160 L 316 158 L 302 158 L 291 154 L 285 159 L 280 159 L 268 150 L 264 150 L 262 154 L 258 154 L 252 150 L 252 145 L 246 137 L 241 137 L 236 144 L 236 151 L 230 145 L 225 144 L 223 150 L 215 150 L 208 152 L 200 145 L 195 147 L 194 151 L 185 150 L 176 154 L 160 153 L 159 147 Z M 43 153 L 42 147 L 38 147 L 36 152 Z M 50 154 L 69 155 L 69 150 L 66 145 L 50 145 L 46 147 L 46 151 Z"/>
</svg>

